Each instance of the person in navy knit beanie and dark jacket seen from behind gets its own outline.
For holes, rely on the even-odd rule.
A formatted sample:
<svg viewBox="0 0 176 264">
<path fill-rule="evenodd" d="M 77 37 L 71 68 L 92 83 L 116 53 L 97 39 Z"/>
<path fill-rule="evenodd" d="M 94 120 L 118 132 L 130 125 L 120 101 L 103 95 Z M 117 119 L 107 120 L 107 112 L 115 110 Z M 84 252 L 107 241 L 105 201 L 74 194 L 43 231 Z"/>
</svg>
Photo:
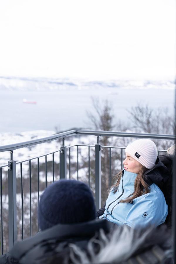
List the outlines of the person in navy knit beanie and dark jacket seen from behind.
<svg viewBox="0 0 176 264">
<path fill-rule="evenodd" d="M 70 263 L 70 243 L 86 251 L 88 241 L 100 229 L 109 232 L 108 221 L 97 221 L 95 214 L 94 197 L 86 184 L 76 180 L 54 182 L 40 198 L 41 231 L 16 242 L 9 253 L 1 256 L 0 264 L 52 263 L 55 258 L 60 264 Z"/>
</svg>

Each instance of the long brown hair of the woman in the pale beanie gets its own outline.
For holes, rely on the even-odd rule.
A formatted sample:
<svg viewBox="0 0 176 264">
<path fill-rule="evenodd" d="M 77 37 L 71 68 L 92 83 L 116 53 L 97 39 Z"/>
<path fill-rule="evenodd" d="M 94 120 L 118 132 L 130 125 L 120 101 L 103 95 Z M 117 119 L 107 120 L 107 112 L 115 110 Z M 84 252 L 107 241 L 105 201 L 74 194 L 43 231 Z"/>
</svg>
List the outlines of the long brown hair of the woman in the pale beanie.
<svg viewBox="0 0 176 264">
<path fill-rule="evenodd" d="M 133 193 L 133 195 L 131 197 L 124 199 L 124 200 L 121 200 L 120 201 L 121 203 L 129 203 L 133 199 L 150 192 L 150 188 L 149 188 L 148 184 L 144 181 L 144 173 L 147 170 L 148 169 L 142 165 L 142 167 L 141 167 L 141 169 L 140 169 L 140 171 L 136 177 L 136 180 L 134 182 L 134 193 Z M 111 188 L 114 188 L 112 190 L 112 192 L 114 192 L 114 193 L 117 192 L 121 177 L 122 177 L 122 170 L 115 176 L 115 179 L 117 179 L 117 182 L 116 182 L 116 184 L 114 184 L 111 187 Z"/>
</svg>

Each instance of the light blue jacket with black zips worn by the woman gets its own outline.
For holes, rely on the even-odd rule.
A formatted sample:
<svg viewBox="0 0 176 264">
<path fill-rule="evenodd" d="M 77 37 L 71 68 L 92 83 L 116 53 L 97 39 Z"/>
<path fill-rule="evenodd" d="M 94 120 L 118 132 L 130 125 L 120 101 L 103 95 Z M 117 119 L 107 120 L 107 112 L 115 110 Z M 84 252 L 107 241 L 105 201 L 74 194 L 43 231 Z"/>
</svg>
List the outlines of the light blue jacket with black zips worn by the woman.
<svg viewBox="0 0 176 264">
<path fill-rule="evenodd" d="M 160 188 L 153 183 L 150 192 L 133 199 L 132 203 L 121 203 L 122 199 L 130 197 L 134 192 L 136 173 L 122 171 L 119 189 L 116 193 L 113 188 L 106 200 L 104 214 L 99 218 L 118 225 L 126 224 L 133 228 L 148 225 L 158 226 L 162 224 L 168 214 L 168 206 Z"/>
</svg>

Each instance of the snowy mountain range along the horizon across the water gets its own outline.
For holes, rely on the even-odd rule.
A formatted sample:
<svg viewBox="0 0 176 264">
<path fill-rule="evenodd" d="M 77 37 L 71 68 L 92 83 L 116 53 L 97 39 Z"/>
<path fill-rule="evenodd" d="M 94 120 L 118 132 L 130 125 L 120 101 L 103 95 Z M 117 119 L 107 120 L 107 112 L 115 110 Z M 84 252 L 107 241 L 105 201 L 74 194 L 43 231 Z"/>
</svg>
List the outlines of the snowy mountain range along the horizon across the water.
<svg viewBox="0 0 176 264">
<path fill-rule="evenodd" d="M 65 90 L 65 89 L 101 89 L 126 88 L 126 89 L 175 89 L 174 80 L 105 80 L 91 81 L 81 79 L 60 78 L 21 78 L 0 77 L 0 90 Z"/>
</svg>

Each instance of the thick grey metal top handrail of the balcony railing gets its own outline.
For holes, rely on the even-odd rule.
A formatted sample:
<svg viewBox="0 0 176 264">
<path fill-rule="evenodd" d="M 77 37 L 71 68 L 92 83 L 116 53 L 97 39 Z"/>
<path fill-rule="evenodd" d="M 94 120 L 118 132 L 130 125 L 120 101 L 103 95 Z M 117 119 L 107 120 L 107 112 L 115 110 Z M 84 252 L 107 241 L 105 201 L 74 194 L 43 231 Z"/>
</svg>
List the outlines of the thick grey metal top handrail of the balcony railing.
<svg viewBox="0 0 176 264">
<path fill-rule="evenodd" d="M 73 135 L 93 135 L 93 136 L 107 136 L 107 137 L 132 137 L 132 138 L 153 138 L 153 139 L 170 139 L 175 140 L 175 135 L 162 135 L 162 134 L 147 134 L 147 133 L 131 133 L 131 132 L 114 132 L 114 131 L 95 131 L 95 130 L 81 130 L 75 129 L 55 134 L 53 136 L 38 138 L 30 141 L 15 143 L 11 145 L 0 146 L 0 152 L 15 150 L 18 148 L 25 148 L 37 144 L 46 143 L 59 138 L 65 138 Z"/>
</svg>

